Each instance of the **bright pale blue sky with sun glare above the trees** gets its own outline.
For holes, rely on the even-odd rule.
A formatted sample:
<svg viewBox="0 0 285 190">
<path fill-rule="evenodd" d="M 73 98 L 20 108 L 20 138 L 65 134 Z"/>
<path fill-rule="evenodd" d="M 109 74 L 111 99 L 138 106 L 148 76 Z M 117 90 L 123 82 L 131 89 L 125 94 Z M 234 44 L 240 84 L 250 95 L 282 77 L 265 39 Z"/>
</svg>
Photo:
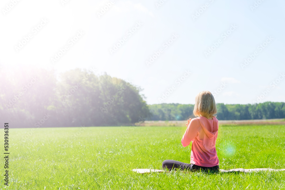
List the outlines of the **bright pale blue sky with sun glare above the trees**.
<svg viewBox="0 0 285 190">
<path fill-rule="evenodd" d="M 141 87 L 148 104 L 285 101 L 282 0 L 3 0 L 0 70 L 74 68 Z M 0 73 L 1 74 L 1 73 Z"/>
</svg>

